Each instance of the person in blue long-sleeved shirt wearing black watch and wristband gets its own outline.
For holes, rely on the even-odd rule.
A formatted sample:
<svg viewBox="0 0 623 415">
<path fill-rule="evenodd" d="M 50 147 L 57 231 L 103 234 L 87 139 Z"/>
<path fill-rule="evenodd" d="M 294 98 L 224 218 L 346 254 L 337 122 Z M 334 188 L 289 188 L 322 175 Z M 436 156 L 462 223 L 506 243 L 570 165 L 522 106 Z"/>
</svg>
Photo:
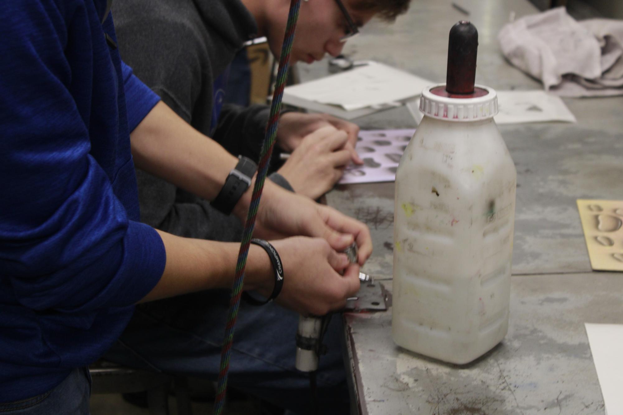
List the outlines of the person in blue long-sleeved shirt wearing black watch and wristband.
<svg viewBox="0 0 623 415">
<path fill-rule="evenodd" d="M 108 6 L 0 2 L 3 414 L 87 414 L 86 366 L 115 342 L 136 303 L 227 288 L 235 274 L 237 244 L 139 221 L 135 165 L 213 200 L 238 161 L 133 76 Z M 235 203 L 239 218 L 250 193 Z M 363 223 L 268 181 L 255 236 L 282 258 L 277 301 L 302 313 L 342 307 L 372 249 Z M 338 253 L 353 241 L 358 264 Z M 259 246 L 245 275 L 244 289 L 272 291 Z"/>
</svg>

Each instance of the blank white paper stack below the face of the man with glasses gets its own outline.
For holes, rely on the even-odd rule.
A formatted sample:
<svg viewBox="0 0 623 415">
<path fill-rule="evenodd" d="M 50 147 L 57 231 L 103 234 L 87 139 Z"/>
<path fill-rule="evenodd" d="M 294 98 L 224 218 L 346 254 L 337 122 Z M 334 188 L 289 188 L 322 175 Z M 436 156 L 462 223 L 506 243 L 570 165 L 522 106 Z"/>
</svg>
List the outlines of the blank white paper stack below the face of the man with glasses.
<svg viewBox="0 0 623 415">
<path fill-rule="evenodd" d="M 288 96 L 354 111 L 418 96 L 422 89 L 433 84 L 411 73 L 371 61 L 346 72 L 288 86 L 283 101 L 287 103 Z"/>
</svg>

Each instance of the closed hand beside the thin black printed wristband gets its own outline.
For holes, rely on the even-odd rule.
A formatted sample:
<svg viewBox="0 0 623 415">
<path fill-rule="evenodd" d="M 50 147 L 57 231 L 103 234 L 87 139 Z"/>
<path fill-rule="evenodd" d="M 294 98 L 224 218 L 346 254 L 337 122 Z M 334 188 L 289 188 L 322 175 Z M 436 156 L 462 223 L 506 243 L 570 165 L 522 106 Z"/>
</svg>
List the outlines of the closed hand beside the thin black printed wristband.
<svg viewBox="0 0 623 415">
<path fill-rule="evenodd" d="M 350 264 L 346 254 L 325 240 L 297 236 L 271 243 L 283 263 L 278 304 L 300 314 L 325 315 L 343 309 L 346 299 L 359 291 L 359 265 Z"/>
</svg>

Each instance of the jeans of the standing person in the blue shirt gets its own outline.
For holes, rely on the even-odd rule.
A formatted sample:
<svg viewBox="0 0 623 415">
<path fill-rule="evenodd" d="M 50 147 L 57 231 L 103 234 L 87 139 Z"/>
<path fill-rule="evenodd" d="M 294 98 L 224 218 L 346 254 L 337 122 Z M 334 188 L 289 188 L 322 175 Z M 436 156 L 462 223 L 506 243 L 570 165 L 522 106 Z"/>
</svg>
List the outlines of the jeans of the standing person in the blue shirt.
<svg viewBox="0 0 623 415">
<path fill-rule="evenodd" d="M 20 401 L 0 403 L 2 415 L 88 415 L 91 376 L 88 368 L 77 368 L 55 388 Z"/>
</svg>

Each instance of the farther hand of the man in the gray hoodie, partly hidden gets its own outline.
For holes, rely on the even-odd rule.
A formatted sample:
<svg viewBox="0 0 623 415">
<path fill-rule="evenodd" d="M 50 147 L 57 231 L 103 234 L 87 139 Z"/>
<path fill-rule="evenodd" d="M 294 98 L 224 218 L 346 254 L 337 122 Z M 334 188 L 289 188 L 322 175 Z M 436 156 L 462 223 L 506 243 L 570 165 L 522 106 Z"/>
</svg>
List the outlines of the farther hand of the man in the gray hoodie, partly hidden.
<svg viewBox="0 0 623 415">
<path fill-rule="evenodd" d="M 356 124 L 335 118 L 328 114 L 283 114 L 279 118 L 277 144 L 279 144 L 283 150 L 293 152 L 302 144 L 305 136 L 326 126 L 333 126 L 348 134 L 348 141 L 346 142 L 345 149 L 350 152 L 354 164 L 363 164 L 363 160 L 361 160 L 359 154 L 357 154 L 357 151 L 354 149 L 359 134 L 359 127 L 356 126 Z"/>
</svg>

